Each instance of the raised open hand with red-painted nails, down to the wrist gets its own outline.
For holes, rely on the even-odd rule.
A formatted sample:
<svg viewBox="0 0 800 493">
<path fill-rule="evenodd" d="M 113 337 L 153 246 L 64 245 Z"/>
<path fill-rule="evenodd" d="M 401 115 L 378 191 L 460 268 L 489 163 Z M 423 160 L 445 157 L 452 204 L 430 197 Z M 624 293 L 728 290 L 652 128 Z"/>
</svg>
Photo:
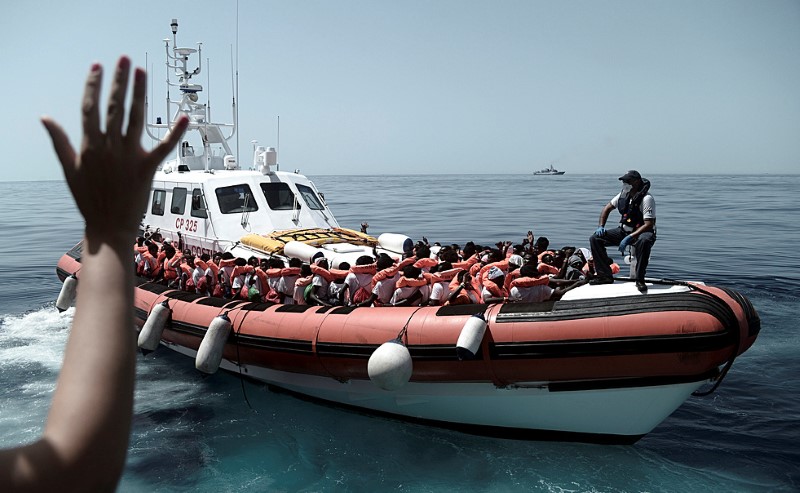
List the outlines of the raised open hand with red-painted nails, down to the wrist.
<svg viewBox="0 0 800 493">
<path fill-rule="evenodd" d="M 177 145 L 188 125 L 180 118 L 172 131 L 152 151 L 141 145 L 147 75 L 137 68 L 128 128 L 123 133 L 125 95 L 130 59 L 120 57 L 108 99 L 106 131 L 100 123 L 100 89 L 103 68 L 92 65 L 82 100 L 83 139 L 80 153 L 69 142 L 64 129 L 50 117 L 42 123 L 50 134 L 64 176 L 75 202 L 86 220 L 87 239 L 130 242 L 145 209 L 150 183 L 159 163 Z"/>
</svg>

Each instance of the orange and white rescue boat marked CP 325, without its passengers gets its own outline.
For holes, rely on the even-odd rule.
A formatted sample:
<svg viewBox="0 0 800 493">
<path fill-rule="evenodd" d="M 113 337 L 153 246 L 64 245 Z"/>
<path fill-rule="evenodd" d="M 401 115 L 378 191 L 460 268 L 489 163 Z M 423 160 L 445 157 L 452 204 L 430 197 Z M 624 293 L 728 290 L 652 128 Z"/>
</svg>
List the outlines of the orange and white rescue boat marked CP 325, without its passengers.
<svg viewBox="0 0 800 493">
<path fill-rule="evenodd" d="M 254 146 L 242 169 L 228 144 L 236 126 L 207 121 L 198 102 L 200 47 L 166 41 L 187 140 L 156 173 L 142 232 L 158 230 L 200 255 L 326 257 L 332 267 L 373 251 L 397 255 L 410 238 L 341 228 L 316 186 L 279 170 Z M 192 143 L 190 133 L 196 134 Z M 199 152 L 195 152 L 198 149 Z M 57 306 L 79 289 L 82 243 L 59 261 Z M 139 278 L 139 345 L 290 392 L 470 432 L 633 443 L 692 394 L 708 393 L 755 341 L 760 320 L 730 289 L 619 279 L 559 301 L 424 307 L 327 307 L 228 300 Z M 707 390 L 700 390 L 707 386 Z"/>
</svg>

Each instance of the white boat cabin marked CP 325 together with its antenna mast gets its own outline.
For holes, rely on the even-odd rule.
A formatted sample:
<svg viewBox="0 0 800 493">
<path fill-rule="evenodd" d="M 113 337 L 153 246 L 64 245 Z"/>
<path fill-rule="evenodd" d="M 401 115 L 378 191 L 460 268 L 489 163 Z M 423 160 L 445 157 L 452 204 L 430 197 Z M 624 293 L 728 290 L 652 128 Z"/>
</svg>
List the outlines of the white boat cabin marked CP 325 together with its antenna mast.
<svg viewBox="0 0 800 493">
<path fill-rule="evenodd" d="M 154 142 L 174 128 L 185 116 L 189 125 L 173 159 L 155 173 L 150 202 L 142 218 L 143 231 L 159 229 L 167 240 L 183 240 L 195 255 L 230 251 L 245 235 L 305 228 L 338 228 L 339 223 L 325 199 L 307 177 L 299 172 L 280 171 L 274 148 L 256 146 L 253 161 L 243 169 L 234 157 L 229 142 L 236 133 L 235 123 L 211 120 L 210 106 L 199 99 L 203 87 L 193 82 L 201 72 L 201 50 L 177 44 L 178 21 L 172 20 L 173 40 L 165 40 L 169 123 L 156 118 L 146 125 Z M 189 67 L 196 55 L 198 65 Z M 169 96 L 180 91 L 180 99 Z M 236 121 L 235 99 L 232 102 Z M 237 146 L 238 147 L 238 146 Z M 238 149 L 237 149 L 238 150 Z"/>
</svg>

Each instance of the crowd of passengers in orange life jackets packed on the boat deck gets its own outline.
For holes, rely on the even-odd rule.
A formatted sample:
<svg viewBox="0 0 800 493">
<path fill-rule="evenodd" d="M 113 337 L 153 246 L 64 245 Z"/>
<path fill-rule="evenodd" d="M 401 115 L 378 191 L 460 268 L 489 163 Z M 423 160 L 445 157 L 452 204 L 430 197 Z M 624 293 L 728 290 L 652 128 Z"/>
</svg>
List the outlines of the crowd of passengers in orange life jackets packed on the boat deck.
<svg viewBox="0 0 800 493">
<path fill-rule="evenodd" d="M 541 302 L 559 299 L 595 277 L 588 249 L 550 248 L 528 232 L 519 244 L 492 247 L 467 242 L 431 245 L 426 238 L 402 256 L 362 255 L 355 265 L 333 268 L 324 256 L 312 262 L 278 256 L 195 256 L 161 240 L 156 231 L 134 244 L 140 277 L 204 296 L 253 302 L 324 306 L 423 306 Z M 615 272 L 619 266 L 612 265 Z"/>
</svg>

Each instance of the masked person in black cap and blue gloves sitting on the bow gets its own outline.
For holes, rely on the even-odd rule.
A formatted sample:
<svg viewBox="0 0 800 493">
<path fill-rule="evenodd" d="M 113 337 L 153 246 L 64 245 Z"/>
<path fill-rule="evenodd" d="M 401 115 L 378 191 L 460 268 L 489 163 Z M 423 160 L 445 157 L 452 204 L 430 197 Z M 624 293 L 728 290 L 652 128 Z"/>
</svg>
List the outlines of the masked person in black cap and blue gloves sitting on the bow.
<svg viewBox="0 0 800 493">
<path fill-rule="evenodd" d="M 636 257 L 632 275 L 636 279 L 636 288 L 644 293 L 647 291 L 644 278 L 650 261 L 650 250 L 656 242 L 656 201 L 649 193 L 650 182 L 642 178 L 638 171 L 630 170 L 619 179 L 623 183 L 622 191 L 600 211 L 598 228 L 589 238 L 597 271 L 597 278 L 591 284 L 614 282 L 606 246 L 618 245 L 622 253 L 630 246 Z M 619 227 L 606 229 L 606 220 L 614 209 L 622 216 Z"/>
</svg>

